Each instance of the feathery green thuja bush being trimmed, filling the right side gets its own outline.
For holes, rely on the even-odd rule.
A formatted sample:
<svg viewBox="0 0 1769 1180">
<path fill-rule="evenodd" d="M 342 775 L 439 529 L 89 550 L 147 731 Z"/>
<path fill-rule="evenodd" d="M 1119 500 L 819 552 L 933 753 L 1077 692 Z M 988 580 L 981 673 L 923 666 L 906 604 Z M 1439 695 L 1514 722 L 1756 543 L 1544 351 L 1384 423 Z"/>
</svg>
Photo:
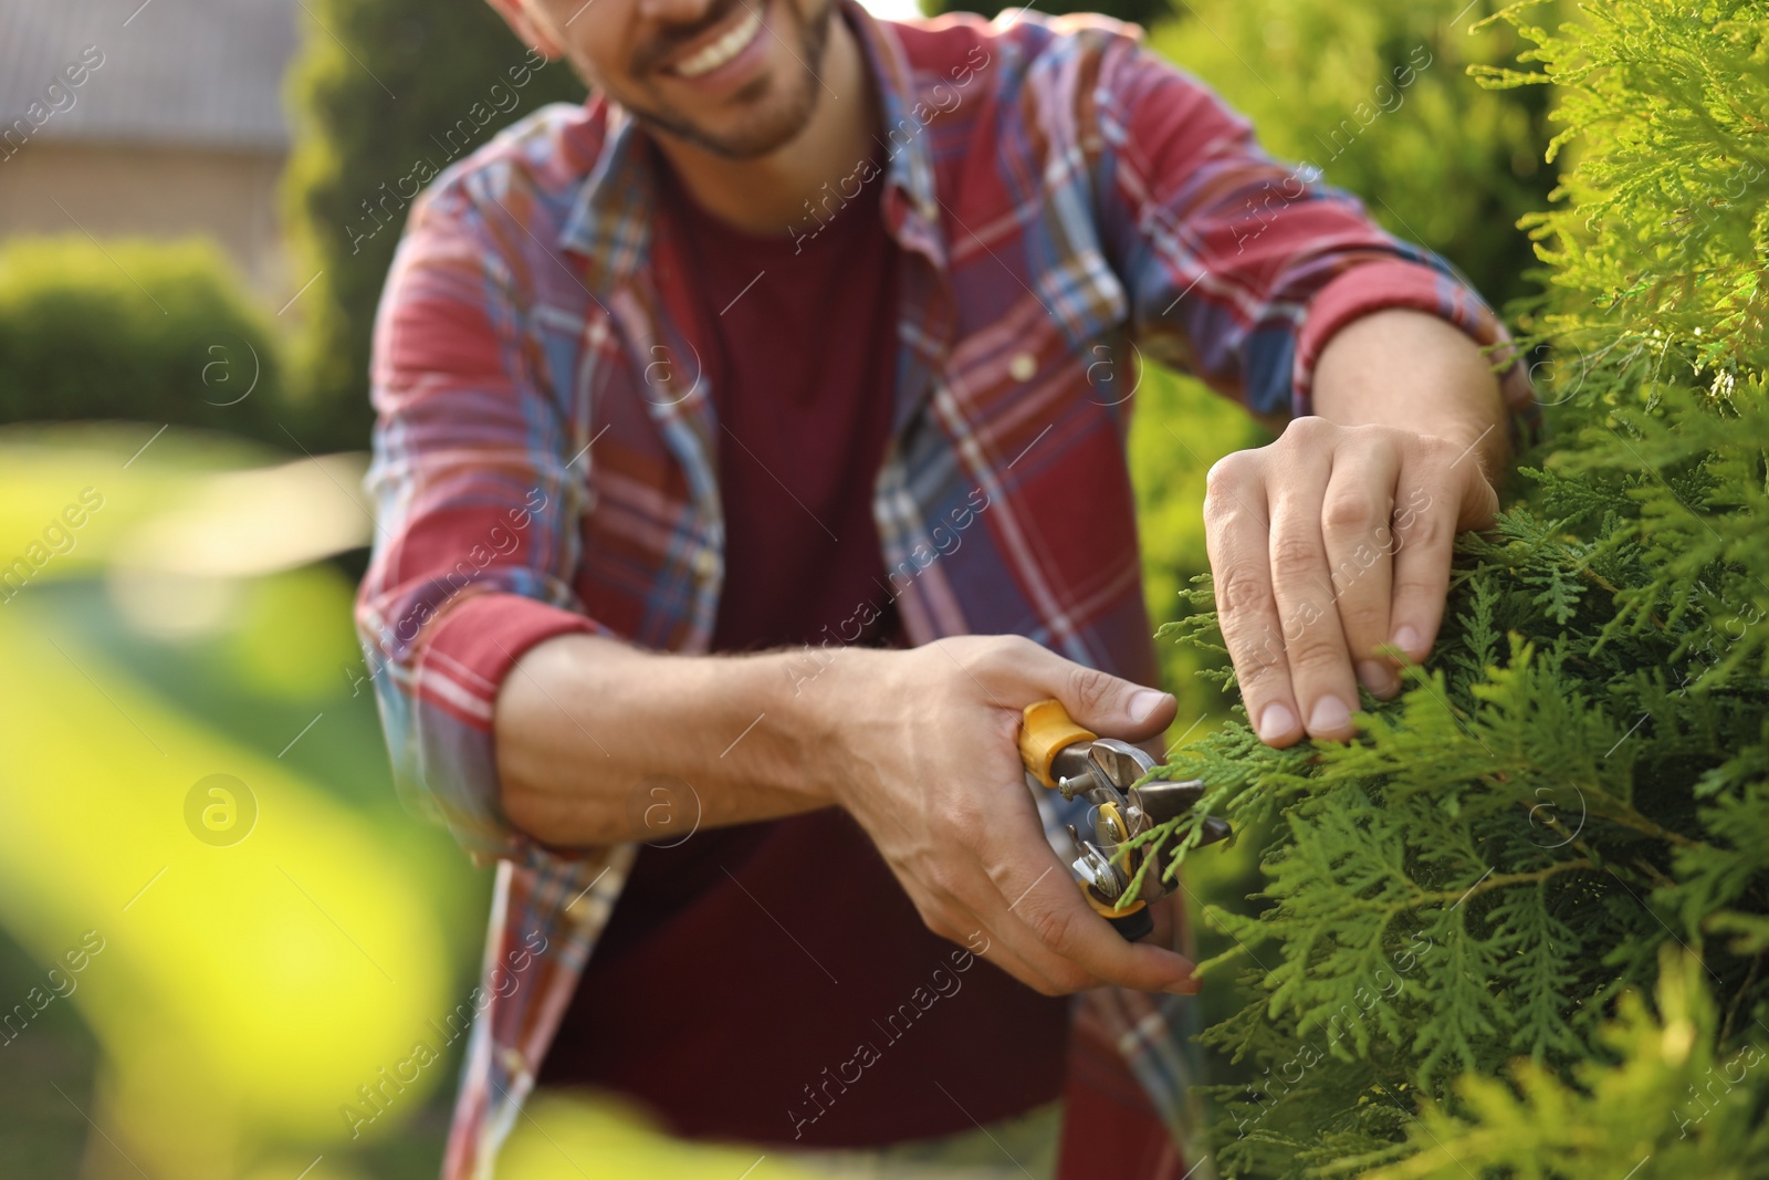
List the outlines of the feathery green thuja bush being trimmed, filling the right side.
<svg viewBox="0 0 1769 1180">
<path fill-rule="evenodd" d="M 1550 81 L 1567 159 L 1527 490 L 1355 741 L 1168 768 L 1272 831 L 1261 908 L 1208 911 L 1231 1176 L 1769 1175 L 1769 7 L 1541 12 L 1475 71 Z M 1219 646 L 1194 603 L 1164 633 Z"/>
</svg>

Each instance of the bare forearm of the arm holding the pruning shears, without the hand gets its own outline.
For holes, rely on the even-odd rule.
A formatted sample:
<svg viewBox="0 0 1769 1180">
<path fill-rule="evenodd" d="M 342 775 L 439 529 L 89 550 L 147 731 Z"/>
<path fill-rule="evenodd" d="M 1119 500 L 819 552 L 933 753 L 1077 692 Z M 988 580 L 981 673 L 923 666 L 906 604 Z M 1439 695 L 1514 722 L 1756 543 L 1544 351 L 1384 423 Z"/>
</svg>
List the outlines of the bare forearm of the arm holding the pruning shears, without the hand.
<svg viewBox="0 0 1769 1180">
<path fill-rule="evenodd" d="M 669 840 L 831 800 L 805 773 L 801 653 L 683 656 L 561 635 L 509 672 L 494 716 L 509 821 L 554 846 Z"/>
</svg>

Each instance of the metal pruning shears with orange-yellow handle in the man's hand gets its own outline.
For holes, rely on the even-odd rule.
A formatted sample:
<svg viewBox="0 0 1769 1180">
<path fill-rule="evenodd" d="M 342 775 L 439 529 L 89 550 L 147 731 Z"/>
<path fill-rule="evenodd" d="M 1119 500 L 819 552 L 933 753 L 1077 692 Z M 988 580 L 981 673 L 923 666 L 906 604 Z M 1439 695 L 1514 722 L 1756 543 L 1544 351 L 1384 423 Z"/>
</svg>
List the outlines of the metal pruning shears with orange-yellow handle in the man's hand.
<svg viewBox="0 0 1769 1180">
<path fill-rule="evenodd" d="M 1068 824 L 1081 895 L 1127 941 L 1146 938 L 1155 929 L 1148 902 L 1168 893 L 1160 851 L 1139 846 L 1120 863 L 1118 849 L 1150 828 L 1189 812 L 1205 796 L 1203 780 L 1148 778 L 1155 773 L 1155 759 L 1146 750 L 1083 729 L 1068 716 L 1061 701 L 1035 701 L 1021 711 L 1019 757 L 1026 764 L 1026 782 L 1035 789 L 1049 787 L 1065 800 L 1083 798 L 1093 805 L 1091 839 Z M 1145 778 L 1148 782 L 1141 782 Z M 1199 826 L 1203 831 L 1198 844 L 1215 844 L 1231 835 L 1228 821 L 1217 816 L 1206 816 Z M 1137 899 L 1118 909 L 1118 899 L 1150 856 L 1155 863 L 1143 874 Z"/>
</svg>

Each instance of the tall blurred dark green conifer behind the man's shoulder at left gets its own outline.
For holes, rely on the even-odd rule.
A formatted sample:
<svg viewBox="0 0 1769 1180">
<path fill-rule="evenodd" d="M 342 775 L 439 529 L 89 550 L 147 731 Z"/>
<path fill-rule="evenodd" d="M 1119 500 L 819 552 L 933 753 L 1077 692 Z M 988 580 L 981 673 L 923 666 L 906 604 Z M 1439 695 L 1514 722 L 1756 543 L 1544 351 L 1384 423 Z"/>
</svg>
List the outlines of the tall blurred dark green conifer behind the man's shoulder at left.
<svg viewBox="0 0 1769 1180">
<path fill-rule="evenodd" d="M 485 0 L 313 0 L 294 69 L 285 200 L 304 274 L 302 373 L 318 400 L 304 442 L 363 446 L 375 304 L 410 198 L 449 163 L 554 101 L 582 101 Z"/>
</svg>

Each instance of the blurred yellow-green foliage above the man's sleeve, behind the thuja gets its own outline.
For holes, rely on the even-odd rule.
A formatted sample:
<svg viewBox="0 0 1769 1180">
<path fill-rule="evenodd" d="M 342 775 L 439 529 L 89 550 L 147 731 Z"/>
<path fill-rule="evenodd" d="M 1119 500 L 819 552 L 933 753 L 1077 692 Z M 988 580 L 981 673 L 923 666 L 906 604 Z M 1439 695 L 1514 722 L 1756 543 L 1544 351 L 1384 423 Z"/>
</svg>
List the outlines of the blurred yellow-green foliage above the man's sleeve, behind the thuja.
<svg viewBox="0 0 1769 1180">
<path fill-rule="evenodd" d="M 1546 103 L 1468 78 L 1470 64 L 1509 62 L 1518 48 L 1505 25 L 1470 30 L 1486 0 L 1187 0 L 1175 11 L 1153 48 L 1244 111 L 1274 156 L 1360 196 L 1495 304 L 1532 290 L 1516 221 L 1555 184 Z"/>
</svg>

